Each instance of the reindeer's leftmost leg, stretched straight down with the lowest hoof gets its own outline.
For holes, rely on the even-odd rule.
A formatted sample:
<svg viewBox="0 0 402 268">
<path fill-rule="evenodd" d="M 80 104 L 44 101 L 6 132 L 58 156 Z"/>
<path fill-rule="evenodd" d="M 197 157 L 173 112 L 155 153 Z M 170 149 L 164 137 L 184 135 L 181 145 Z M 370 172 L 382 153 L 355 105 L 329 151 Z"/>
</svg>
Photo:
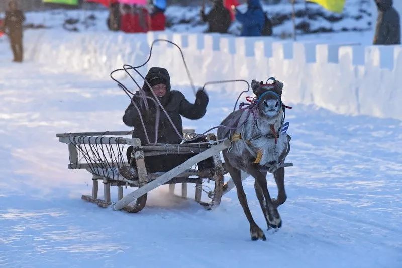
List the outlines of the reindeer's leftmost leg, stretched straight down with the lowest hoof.
<svg viewBox="0 0 402 268">
<path fill-rule="evenodd" d="M 237 197 L 240 201 L 240 205 L 242 206 L 244 214 L 246 214 L 247 220 L 250 223 L 251 240 L 256 241 L 258 239 L 261 239 L 261 240 L 265 241 L 266 237 L 264 235 L 264 232 L 255 223 L 253 216 L 251 215 L 250 209 L 248 207 L 247 197 L 246 197 L 246 193 L 244 193 L 240 170 L 236 169 L 235 167 L 230 165 L 230 163 L 229 163 L 227 157 L 225 157 L 225 155 L 224 155 L 224 159 L 225 159 L 225 167 L 228 169 L 229 174 L 232 177 L 234 184 L 236 185 Z"/>
</svg>

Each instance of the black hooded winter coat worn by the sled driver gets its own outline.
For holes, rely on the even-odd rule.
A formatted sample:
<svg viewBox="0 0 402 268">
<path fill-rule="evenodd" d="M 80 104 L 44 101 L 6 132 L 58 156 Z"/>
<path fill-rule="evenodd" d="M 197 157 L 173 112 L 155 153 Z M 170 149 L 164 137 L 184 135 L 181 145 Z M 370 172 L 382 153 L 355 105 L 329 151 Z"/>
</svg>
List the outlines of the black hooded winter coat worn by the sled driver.
<svg viewBox="0 0 402 268">
<path fill-rule="evenodd" d="M 206 113 L 208 96 L 205 92 L 198 91 L 195 103 L 191 104 L 185 99 L 184 95 L 181 92 L 170 91 L 170 77 L 165 69 L 151 68 L 145 79 L 149 81 L 150 78 L 155 76 L 161 76 L 166 79 L 167 93 L 162 99 L 160 99 L 160 102 L 170 116 L 180 135 L 182 135 L 183 125 L 181 116 L 184 116 L 188 119 L 202 118 Z M 154 99 L 151 90 L 145 83 L 143 89 L 147 96 Z M 149 110 L 147 111 L 142 99 L 138 98 L 139 96 L 140 95 L 137 92 L 136 95 L 133 97 L 132 102 L 137 105 L 141 112 L 150 143 L 154 143 L 156 134 L 156 107 L 153 101 L 148 100 Z M 132 102 L 129 104 L 124 113 L 123 122 L 127 126 L 134 127 L 133 137 L 141 139 L 142 144 L 147 144 L 144 129 L 140 120 L 140 115 Z M 158 143 L 179 144 L 182 141 L 162 109 L 160 109 L 160 120 L 157 135 Z"/>
</svg>

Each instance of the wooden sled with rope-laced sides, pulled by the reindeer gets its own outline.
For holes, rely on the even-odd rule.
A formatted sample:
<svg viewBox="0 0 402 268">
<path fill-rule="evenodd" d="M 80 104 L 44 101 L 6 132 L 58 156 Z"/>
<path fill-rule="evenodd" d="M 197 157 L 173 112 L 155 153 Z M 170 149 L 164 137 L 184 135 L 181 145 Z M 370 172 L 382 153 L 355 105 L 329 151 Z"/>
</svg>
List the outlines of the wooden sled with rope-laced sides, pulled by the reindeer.
<svg viewBox="0 0 402 268">
<path fill-rule="evenodd" d="M 194 132 L 184 130 L 183 132 Z M 229 192 L 234 183 L 230 179 L 224 182 L 224 174 L 227 171 L 221 160 L 220 152 L 230 147 L 229 139 L 216 140 L 214 134 L 207 135 L 206 142 L 185 144 L 156 144 L 141 145 L 141 141 L 131 138 L 131 131 L 90 132 L 90 133 L 64 133 L 57 134 L 59 141 L 68 145 L 70 164 L 69 169 L 86 169 L 92 173 L 92 194 L 83 195 L 82 199 L 107 208 L 112 205 L 111 186 L 118 187 L 117 202 L 113 204 L 114 210 L 125 210 L 130 213 L 141 211 L 146 204 L 149 191 L 164 185 L 169 185 L 169 193 L 174 194 L 175 184 L 181 184 L 181 197 L 187 198 L 187 185 L 195 184 L 194 200 L 207 209 L 214 209 L 221 203 L 222 195 Z M 133 146 L 130 164 L 125 159 L 125 146 Z M 145 156 L 194 154 L 184 163 L 169 170 L 148 174 L 145 167 Z M 210 172 L 199 171 L 193 167 L 212 157 L 214 168 Z M 119 174 L 119 170 L 125 166 L 136 166 L 137 180 L 128 180 Z M 291 166 L 292 164 L 285 164 Z M 248 175 L 243 174 L 242 180 Z M 215 183 L 214 190 L 203 190 L 203 182 L 206 180 Z M 104 186 L 104 199 L 98 198 L 98 182 Z M 132 193 L 123 196 L 123 187 L 138 188 Z M 202 201 L 202 192 L 207 192 L 211 199 L 209 203 Z"/>
</svg>

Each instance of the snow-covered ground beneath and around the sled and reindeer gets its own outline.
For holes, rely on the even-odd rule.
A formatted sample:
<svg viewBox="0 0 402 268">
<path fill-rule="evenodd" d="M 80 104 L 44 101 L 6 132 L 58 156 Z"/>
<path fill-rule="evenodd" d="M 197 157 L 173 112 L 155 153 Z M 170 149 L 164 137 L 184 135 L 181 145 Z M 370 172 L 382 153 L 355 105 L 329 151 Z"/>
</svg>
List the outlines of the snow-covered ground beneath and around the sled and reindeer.
<svg viewBox="0 0 402 268">
<path fill-rule="evenodd" d="M 6 42 L 0 51 L 9 51 Z M 67 169 L 67 148 L 55 134 L 128 129 L 121 116 L 129 101 L 108 77 L 13 64 L 8 53 L 0 54 L 0 266 L 402 266 L 401 121 L 288 110 L 287 160 L 295 166 L 286 169 L 283 227 L 252 242 L 235 190 L 215 211 L 168 198 L 166 188 L 151 193 L 139 214 L 81 201 L 91 176 Z M 207 115 L 184 126 L 217 125 L 236 97 L 210 91 Z M 253 180 L 244 185 L 265 229 Z M 275 196 L 272 179 L 269 188 Z"/>
</svg>

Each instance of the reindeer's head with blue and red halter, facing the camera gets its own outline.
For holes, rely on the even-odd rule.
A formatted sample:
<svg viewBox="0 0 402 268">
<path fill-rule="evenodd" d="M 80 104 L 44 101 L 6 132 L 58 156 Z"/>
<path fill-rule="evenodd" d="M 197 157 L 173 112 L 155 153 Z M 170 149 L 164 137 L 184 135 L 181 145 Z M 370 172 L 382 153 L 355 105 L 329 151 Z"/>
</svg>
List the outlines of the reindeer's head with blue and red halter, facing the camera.
<svg viewBox="0 0 402 268">
<path fill-rule="evenodd" d="M 283 83 L 269 78 L 273 83 L 263 83 L 253 80 L 251 88 L 256 96 L 259 113 L 267 117 L 277 116 L 282 108 L 282 88 Z M 268 82 L 267 80 L 267 82 Z"/>
</svg>

